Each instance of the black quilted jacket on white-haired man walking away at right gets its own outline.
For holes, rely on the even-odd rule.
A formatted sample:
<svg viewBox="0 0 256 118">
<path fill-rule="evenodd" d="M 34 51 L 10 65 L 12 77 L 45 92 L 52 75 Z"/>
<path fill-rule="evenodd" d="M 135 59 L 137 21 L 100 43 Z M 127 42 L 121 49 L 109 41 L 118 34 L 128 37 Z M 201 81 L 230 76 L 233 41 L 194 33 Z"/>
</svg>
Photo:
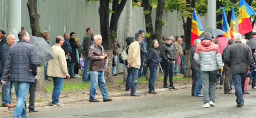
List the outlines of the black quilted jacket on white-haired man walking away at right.
<svg viewBox="0 0 256 118">
<path fill-rule="evenodd" d="M 232 73 L 248 72 L 248 64 L 251 70 L 254 69 L 251 49 L 241 41 L 236 41 L 230 45 L 226 50 L 224 58 L 226 65 L 230 67 Z"/>
</svg>

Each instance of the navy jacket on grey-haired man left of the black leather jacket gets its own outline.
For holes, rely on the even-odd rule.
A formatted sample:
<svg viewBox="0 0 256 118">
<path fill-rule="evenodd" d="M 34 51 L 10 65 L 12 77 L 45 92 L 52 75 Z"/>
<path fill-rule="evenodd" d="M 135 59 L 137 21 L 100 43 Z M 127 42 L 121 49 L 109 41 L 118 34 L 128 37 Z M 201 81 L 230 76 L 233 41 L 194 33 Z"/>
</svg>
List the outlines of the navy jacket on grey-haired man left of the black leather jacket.
<svg viewBox="0 0 256 118">
<path fill-rule="evenodd" d="M 160 61 L 159 54 L 155 47 L 151 47 L 148 52 L 147 66 L 158 67 Z"/>
</svg>

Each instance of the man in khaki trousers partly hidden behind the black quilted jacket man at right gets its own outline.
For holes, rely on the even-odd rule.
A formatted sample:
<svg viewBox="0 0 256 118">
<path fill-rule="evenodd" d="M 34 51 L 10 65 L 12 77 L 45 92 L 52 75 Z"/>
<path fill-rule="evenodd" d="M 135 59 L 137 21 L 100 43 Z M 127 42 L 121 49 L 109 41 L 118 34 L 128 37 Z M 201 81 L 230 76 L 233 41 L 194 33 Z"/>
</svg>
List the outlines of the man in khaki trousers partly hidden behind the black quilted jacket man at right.
<svg viewBox="0 0 256 118">
<path fill-rule="evenodd" d="M 234 39 L 228 40 L 228 46 L 230 46 L 233 43 L 234 43 Z M 235 92 L 233 92 L 230 88 L 230 83 L 231 83 L 231 79 L 232 79 L 231 70 L 230 70 L 230 67 L 226 65 L 225 58 L 224 58 L 226 55 L 226 50 L 227 50 L 228 46 L 224 48 L 223 53 L 222 53 L 222 61 L 224 63 L 224 71 L 225 71 L 224 94 L 235 94 Z"/>
</svg>

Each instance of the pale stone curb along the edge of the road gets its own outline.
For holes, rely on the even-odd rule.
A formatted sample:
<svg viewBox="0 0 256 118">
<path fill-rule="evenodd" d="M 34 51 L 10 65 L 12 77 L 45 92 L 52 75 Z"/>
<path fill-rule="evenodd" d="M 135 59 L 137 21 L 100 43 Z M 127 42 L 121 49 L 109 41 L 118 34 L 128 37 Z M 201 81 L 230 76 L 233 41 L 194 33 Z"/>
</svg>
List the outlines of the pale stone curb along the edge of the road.
<svg viewBox="0 0 256 118">
<path fill-rule="evenodd" d="M 177 89 L 185 89 L 185 88 L 191 88 L 192 85 L 186 85 L 186 86 L 181 86 L 181 87 L 176 87 Z M 157 89 L 155 90 L 156 92 L 165 92 L 165 91 L 170 91 L 171 89 Z M 137 94 L 144 94 L 148 93 L 148 90 L 139 90 L 136 91 Z M 116 98 L 116 97 L 121 97 L 121 96 L 129 96 L 130 92 L 123 92 L 123 93 L 116 93 L 112 95 L 108 95 L 109 98 Z M 95 99 L 102 99 L 102 96 L 95 96 Z M 89 98 L 75 98 L 75 99 L 68 99 L 68 100 L 60 100 L 61 103 L 68 104 L 72 102 L 81 102 L 81 101 L 89 101 Z M 38 102 L 35 103 L 35 107 L 44 107 L 44 106 L 51 106 L 52 102 Z M 27 104 L 27 107 L 29 104 Z M 9 107 L 0 107 L 0 112 L 5 112 L 5 111 L 14 111 L 15 107 L 9 108 Z"/>
</svg>

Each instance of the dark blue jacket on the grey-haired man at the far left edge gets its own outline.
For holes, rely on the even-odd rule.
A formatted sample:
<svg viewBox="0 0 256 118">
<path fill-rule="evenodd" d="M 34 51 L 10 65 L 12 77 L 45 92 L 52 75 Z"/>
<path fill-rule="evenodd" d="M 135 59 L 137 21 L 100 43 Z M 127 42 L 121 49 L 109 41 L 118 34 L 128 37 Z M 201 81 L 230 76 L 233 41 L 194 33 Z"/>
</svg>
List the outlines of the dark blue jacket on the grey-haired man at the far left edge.
<svg viewBox="0 0 256 118">
<path fill-rule="evenodd" d="M 2 45 L 2 47 L 0 49 L 0 58 L 1 58 L 1 62 L 0 62 L 0 76 L 2 76 L 2 71 L 3 71 L 3 68 L 4 68 L 4 64 L 5 64 L 5 60 L 6 60 L 9 48 L 10 48 L 10 45 L 5 42 L 4 45 Z"/>
</svg>

